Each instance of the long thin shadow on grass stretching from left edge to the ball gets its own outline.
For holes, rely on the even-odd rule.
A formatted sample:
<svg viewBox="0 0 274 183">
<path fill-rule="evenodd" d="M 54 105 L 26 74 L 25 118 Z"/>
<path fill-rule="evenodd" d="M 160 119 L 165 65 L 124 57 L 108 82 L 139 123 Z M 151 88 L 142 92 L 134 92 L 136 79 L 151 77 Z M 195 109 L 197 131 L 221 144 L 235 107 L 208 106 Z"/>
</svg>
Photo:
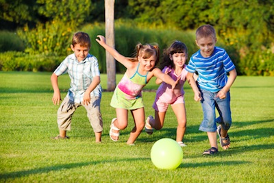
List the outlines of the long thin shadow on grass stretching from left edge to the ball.
<svg viewBox="0 0 274 183">
<path fill-rule="evenodd" d="M 125 158 L 125 159 L 116 159 L 116 160 L 102 160 L 102 161 L 91 161 L 91 162 L 77 162 L 77 163 L 70 163 L 70 164 L 57 164 L 51 167 L 42 167 L 38 169 L 30 169 L 25 171 L 15 171 L 11 173 L 1 173 L 0 174 L 0 182 L 1 180 L 6 180 L 10 178 L 21 178 L 28 175 L 35 175 L 41 173 L 49 173 L 51 171 L 63 171 L 66 169 L 74 169 L 77 167 L 84 167 L 89 165 L 95 165 L 100 163 L 108 163 L 108 162 L 119 162 L 119 161 L 140 161 L 140 160 L 150 160 L 149 158 Z"/>
</svg>

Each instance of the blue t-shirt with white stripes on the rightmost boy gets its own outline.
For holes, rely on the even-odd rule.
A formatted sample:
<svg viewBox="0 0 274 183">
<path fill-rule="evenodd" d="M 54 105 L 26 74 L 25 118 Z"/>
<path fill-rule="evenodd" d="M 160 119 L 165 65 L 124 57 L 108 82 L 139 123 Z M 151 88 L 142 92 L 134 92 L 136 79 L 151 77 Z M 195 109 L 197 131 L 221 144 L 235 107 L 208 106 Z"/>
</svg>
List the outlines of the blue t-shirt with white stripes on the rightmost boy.
<svg viewBox="0 0 274 183">
<path fill-rule="evenodd" d="M 194 53 L 186 66 L 190 73 L 198 72 L 201 89 L 216 93 L 227 83 L 227 73 L 235 69 L 225 49 L 214 47 L 212 56 L 203 58 L 200 50 Z"/>
</svg>

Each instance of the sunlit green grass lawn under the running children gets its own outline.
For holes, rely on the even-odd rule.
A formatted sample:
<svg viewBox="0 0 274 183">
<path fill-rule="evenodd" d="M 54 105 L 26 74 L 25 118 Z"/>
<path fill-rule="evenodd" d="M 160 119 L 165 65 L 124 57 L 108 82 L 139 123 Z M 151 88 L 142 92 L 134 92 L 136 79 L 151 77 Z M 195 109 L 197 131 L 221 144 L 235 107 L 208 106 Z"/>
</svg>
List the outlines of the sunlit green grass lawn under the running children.
<svg viewBox="0 0 274 183">
<path fill-rule="evenodd" d="M 239 76 L 231 88 L 232 141 L 227 151 L 213 157 L 201 156 L 209 148 L 205 133 L 199 132 L 201 105 L 185 84 L 188 125 L 184 159 L 175 170 L 157 169 L 150 149 L 160 138 L 175 138 L 176 120 L 172 110 L 164 128 L 149 136 L 140 134 L 135 146 L 126 145 L 129 125 L 119 142 L 108 136 L 115 111 L 112 93 L 101 101 L 103 143 L 96 144 L 84 108 L 73 116 L 68 141 L 54 141 L 58 134 L 51 97 L 51 73 L 0 72 L 0 182 L 274 182 L 274 78 Z M 121 75 L 117 75 L 119 81 Z M 69 88 L 67 75 L 59 78 L 62 97 Z M 106 75 L 101 75 L 106 86 Z M 155 90 L 153 80 L 146 86 Z M 145 91 L 146 114 L 153 114 L 155 92 Z"/>
</svg>

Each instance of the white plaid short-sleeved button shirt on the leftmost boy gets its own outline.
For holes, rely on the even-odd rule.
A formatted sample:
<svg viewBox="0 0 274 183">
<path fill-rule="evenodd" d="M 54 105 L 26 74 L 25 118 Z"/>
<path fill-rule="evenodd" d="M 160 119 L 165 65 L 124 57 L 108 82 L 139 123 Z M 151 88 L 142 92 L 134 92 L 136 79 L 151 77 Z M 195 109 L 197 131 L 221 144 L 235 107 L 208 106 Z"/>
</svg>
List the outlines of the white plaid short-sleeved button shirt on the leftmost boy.
<svg viewBox="0 0 274 183">
<path fill-rule="evenodd" d="M 58 76 L 69 73 L 71 88 L 69 88 L 66 96 L 77 103 L 83 101 L 84 93 L 88 86 L 90 86 L 93 77 L 100 76 L 98 60 L 90 54 L 81 62 L 77 61 L 74 53 L 67 56 L 60 66 L 55 69 L 54 73 Z M 101 97 L 101 93 L 101 84 L 98 84 L 97 87 L 92 90 L 90 96 Z"/>
</svg>

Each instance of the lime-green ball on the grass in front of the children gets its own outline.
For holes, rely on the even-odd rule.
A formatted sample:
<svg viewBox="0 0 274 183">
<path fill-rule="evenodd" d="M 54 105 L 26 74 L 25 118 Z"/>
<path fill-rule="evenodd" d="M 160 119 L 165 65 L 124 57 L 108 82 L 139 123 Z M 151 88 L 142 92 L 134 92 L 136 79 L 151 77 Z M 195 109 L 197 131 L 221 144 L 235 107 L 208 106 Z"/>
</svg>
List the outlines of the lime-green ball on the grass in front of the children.
<svg viewBox="0 0 274 183">
<path fill-rule="evenodd" d="M 182 147 L 171 138 L 162 138 L 151 147 L 151 161 L 158 169 L 176 169 L 182 163 Z"/>
</svg>

